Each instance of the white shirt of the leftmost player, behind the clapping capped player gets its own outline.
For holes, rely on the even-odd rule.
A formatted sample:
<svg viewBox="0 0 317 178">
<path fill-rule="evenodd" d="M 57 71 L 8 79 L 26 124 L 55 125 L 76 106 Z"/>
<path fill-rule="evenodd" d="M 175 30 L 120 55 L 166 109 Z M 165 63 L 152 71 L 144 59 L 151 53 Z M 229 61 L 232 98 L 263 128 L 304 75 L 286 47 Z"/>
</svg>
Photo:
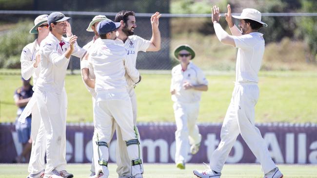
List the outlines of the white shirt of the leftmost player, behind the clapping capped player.
<svg viewBox="0 0 317 178">
<path fill-rule="evenodd" d="M 40 50 L 38 44 L 38 39 L 34 42 L 26 45 L 21 53 L 20 62 L 21 62 L 21 75 L 25 80 L 28 80 L 33 77 L 33 85 L 36 85 L 36 81 L 40 75 L 40 64 L 37 68 L 33 66 L 35 62 L 35 55 Z"/>
</svg>

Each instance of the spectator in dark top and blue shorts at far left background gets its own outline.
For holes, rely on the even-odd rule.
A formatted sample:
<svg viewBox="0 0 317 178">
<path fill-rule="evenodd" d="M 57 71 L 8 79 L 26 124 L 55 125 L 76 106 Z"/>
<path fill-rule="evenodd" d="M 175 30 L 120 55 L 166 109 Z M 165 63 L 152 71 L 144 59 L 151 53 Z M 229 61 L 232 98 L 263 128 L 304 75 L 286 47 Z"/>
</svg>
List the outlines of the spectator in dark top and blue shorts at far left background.
<svg viewBox="0 0 317 178">
<path fill-rule="evenodd" d="M 22 113 L 24 107 L 29 102 L 33 95 L 33 86 L 30 84 L 30 79 L 24 80 L 22 79 L 23 86 L 17 89 L 14 93 L 14 101 L 15 104 L 19 107 L 17 111 L 17 118 L 19 118 L 20 114 Z M 32 148 L 32 139 L 31 135 L 31 115 L 26 118 L 24 124 L 21 124 L 16 121 L 16 131 L 18 132 L 19 142 L 23 145 L 23 150 L 20 155 L 16 158 L 18 163 L 27 162 L 30 159 L 31 148 Z"/>
</svg>

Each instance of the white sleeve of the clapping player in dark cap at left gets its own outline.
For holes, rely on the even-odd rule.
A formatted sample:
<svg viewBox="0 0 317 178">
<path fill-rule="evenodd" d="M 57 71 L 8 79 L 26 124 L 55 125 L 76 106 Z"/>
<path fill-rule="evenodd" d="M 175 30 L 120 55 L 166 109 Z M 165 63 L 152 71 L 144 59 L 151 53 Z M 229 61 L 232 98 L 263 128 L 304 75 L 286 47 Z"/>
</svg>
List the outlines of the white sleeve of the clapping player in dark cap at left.
<svg viewBox="0 0 317 178">
<path fill-rule="evenodd" d="M 44 44 L 41 49 L 40 49 L 40 55 L 41 55 L 41 60 L 43 60 L 43 57 L 48 59 L 54 66 L 56 67 L 61 67 L 66 62 L 68 62 L 68 58 L 65 57 L 65 54 L 59 54 L 55 47 L 55 45 L 47 43 Z"/>
</svg>

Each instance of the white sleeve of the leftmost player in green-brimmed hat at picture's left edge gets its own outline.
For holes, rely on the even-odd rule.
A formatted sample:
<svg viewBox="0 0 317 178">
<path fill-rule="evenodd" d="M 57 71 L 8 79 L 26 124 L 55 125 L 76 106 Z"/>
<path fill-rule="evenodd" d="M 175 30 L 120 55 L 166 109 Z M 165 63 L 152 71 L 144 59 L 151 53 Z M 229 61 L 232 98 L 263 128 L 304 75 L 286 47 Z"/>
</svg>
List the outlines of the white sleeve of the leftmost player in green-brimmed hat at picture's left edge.
<svg viewBox="0 0 317 178">
<path fill-rule="evenodd" d="M 22 75 L 22 77 L 25 80 L 30 79 L 34 73 L 35 68 L 33 66 L 34 62 L 32 61 L 32 53 L 27 47 L 24 47 L 22 50 L 20 62 L 21 62 L 21 75 Z"/>
</svg>

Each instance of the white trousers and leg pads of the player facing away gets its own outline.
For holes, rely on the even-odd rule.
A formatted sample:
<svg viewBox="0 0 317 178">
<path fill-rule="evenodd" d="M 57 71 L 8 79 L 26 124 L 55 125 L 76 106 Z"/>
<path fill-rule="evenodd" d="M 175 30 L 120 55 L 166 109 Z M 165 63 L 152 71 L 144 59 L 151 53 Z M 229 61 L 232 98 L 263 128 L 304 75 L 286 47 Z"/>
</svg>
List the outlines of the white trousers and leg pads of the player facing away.
<svg viewBox="0 0 317 178">
<path fill-rule="evenodd" d="M 111 94 L 109 94 L 109 96 L 110 95 Z M 117 125 L 120 127 L 123 141 L 137 139 L 136 133 L 134 131 L 133 113 L 130 97 L 126 92 L 121 93 L 120 98 L 122 98 L 122 100 L 101 100 L 97 95 L 97 101 L 94 109 L 94 118 L 95 132 L 98 135 L 99 142 L 106 142 L 109 145 L 112 137 L 113 120 L 115 120 Z M 124 144 L 126 145 L 126 143 Z M 132 144 L 130 146 L 127 146 L 126 149 L 130 162 L 129 168 L 132 169 L 130 176 L 141 174 L 143 172 L 143 169 L 140 165 L 131 166 L 131 160 L 139 159 L 139 145 Z M 108 159 L 108 147 L 99 146 L 99 160 L 108 161 Z M 95 160 L 95 162 L 96 161 L 98 160 Z M 103 172 L 103 174 L 106 175 L 106 177 L 109 176 L 108 167 L 99 165 L 95 168 L 95 173 L 99 173 L 100 170 Z"/>
</svg>

